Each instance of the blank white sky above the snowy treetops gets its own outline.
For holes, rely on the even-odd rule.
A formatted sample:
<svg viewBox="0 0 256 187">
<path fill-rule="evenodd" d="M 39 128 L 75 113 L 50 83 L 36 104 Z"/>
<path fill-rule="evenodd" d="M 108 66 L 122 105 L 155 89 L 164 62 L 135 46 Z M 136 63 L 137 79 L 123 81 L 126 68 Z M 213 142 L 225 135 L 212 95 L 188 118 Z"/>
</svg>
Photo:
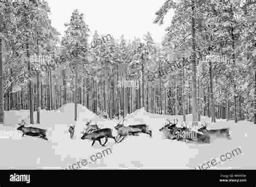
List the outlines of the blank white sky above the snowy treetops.
<svg viewBox="0 0 256 187">
<path fill-rule="evenodd" d="M 148 31 L 156 43 L 162 41 L 165 28 L 170 25 L 172 12 L 164 19 L 163 25 L 153 24 L 155 12 L 165 0 L 47 0 L 51 8 L 52 25 L 63 36 L 64 23 L 69 22 L 74 9 L 84 14 L 91 36 L 97 30 L 99 35 L 110 34 L 119 39 L 142 38 Z"/>
</svg>

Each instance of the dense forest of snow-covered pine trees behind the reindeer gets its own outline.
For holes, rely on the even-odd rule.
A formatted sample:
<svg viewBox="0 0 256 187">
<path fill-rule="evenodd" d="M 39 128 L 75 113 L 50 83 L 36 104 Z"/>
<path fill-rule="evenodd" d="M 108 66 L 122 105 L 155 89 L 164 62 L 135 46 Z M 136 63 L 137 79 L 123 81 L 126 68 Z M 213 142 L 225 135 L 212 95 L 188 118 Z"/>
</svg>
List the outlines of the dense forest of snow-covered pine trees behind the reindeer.
<svg viewBox="0 0 256 187">
<path fill-rule="evenodd" d="M 78 9 L 61 37 L 46 0 L 1 1 L 0 123 L 4 111 L 29 110 L 39 124 L 40 110 L 74 103 L 75 121 L 82 104 L 110 119 L 144 107 L 183 121 L 192 114 L 194 126 L 201 116 L 256 124 L 256 2 L 166 0 L 152 24 L 170 9 L 157 45 L 150 32 L 134 40 L 92 32 Z"/>
</svg>

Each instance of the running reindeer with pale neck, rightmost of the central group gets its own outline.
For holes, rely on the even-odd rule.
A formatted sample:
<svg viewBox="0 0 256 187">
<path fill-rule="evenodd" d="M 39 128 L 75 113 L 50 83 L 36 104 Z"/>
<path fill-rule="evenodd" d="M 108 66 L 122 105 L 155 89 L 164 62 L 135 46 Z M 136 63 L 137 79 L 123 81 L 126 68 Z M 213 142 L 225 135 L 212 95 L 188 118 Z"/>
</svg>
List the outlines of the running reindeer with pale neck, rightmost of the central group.
<svg viewBox="0 0 256 187">
<path fill-rule="evenodd" d="M 123 118 L 122 124 L 118 123 L 117 126 L 115 126 L 115 129 L 117 130 L 117 141 L 123 137 L 118 143 L 123 141 L 127 135 L 138 136 L 139 133 L 145 133 L 152 137 L 152 130 L 149 130 L 149 127 L 146 124 L 124 126 L 124 121 L 125 119 Z"/>
</svg>

